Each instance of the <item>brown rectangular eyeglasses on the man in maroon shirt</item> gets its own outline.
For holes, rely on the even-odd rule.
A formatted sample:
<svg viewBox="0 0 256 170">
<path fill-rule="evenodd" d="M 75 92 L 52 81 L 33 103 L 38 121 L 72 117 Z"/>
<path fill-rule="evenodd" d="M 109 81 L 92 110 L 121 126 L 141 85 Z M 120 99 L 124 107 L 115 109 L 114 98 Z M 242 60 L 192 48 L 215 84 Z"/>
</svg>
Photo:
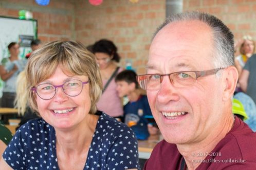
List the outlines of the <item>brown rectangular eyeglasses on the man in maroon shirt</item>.
<svg viewBox="0 0 256 170">
<path fill-rule="evenodd" d="M 198 77 L 216 74 L 219 70 L 222 69 L 225 68 L 205 71 L 180 71 L 170 74 L 143 74 L 138 75 L 137 80 L 140 87 L 144 90 L 159 90 L 163 76 L 168 76 L 174 87 L 184 88 L 191 86 L 194 82 L 196 82 Z"/>
</svg>

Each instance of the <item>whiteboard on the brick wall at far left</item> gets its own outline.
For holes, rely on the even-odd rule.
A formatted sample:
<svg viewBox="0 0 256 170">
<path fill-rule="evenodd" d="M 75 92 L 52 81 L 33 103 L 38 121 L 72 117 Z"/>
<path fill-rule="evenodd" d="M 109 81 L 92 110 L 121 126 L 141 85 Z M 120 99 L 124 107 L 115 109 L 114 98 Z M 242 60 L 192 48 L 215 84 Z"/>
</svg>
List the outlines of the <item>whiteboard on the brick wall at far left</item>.
<svg viewBox="0 0 256 170">
<path fill-rule="evenodd" d="M 9 57 L 7 46 L 10 42 L 20 43 L 23 40 L 21 37 L 37 37 L 37 20 L 0 16 L 0 61 Z M 30 51 L 30 47 L 21 45 L 20 57 L 25 57 Z"/>
</svg>

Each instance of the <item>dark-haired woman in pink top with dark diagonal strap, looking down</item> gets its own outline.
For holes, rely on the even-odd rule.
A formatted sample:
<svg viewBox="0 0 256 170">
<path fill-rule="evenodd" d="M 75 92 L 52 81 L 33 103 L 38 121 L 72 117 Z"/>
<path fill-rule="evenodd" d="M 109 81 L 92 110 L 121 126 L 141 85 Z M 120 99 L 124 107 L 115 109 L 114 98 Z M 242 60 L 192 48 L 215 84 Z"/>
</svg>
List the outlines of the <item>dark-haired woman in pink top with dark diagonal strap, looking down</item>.
<svg viewBox="0 0 256 170">
<path fill-rule="evenodd" d="M 115 77 L 123 69 L 117 66 L 120 60 L 117 47 L 112 41 L 101 39 L 95 42 L 92 51 L 96 56 L 103 83 L 103 92 L 97 103 L 97 109 L 112 117 L 121 118 L 123 106 L 116 91 Z"/>
</svg>

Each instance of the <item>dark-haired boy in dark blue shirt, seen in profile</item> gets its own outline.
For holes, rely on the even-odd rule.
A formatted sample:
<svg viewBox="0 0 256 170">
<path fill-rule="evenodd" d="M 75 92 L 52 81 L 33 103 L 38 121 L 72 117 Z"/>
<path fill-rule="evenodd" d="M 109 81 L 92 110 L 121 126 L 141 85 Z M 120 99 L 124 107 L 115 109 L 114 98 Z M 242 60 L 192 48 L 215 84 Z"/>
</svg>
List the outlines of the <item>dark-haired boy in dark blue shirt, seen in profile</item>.
<svg viewBox="0 0 256 170">
<path fill-rule="evenodd" d="M 152 116 L 148 98 L 136 80 L 137 74 L 132 70 L 120 72 L 115 81 L 119 97 L 127 96 L 129 102 L 124 105 L 124 123 L 135 133 L 137 139 L 145 140 L 158 133 L 158 128 L 149 124 L 145 116 Z"/>
</svg>

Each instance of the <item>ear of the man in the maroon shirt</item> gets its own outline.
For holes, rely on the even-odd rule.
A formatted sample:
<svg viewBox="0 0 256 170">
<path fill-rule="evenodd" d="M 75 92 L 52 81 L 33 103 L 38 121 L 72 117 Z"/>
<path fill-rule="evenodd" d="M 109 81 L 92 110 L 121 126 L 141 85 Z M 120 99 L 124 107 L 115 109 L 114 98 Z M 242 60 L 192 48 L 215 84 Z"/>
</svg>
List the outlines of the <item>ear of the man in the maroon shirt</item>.
<svg viewBox="0 0 256 170">
<path fill-rule="evenodd" d="M 223 100 L 230 100 L 233 96 L 237 80 L 238 72 L 234 66 L 226 68 L 223 72 L 223 81 L 224 81 L 224 91 L 223 91 Z"/>
</svg>

